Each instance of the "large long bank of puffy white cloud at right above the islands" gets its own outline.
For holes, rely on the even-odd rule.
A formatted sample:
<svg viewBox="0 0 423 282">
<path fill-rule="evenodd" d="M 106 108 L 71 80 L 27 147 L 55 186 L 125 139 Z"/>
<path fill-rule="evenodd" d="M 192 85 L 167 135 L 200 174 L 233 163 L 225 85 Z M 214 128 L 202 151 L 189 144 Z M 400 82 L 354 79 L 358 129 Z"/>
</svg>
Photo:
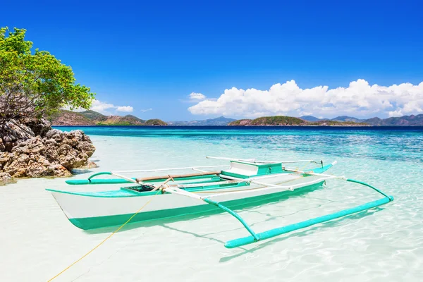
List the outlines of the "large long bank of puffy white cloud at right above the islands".
<svg viewBox="0 0 423 282">
<path fill-rule="evenodd" d="M 191 94 L 190 94 L 191 95 Z M 204 97 L 205 98 L 205 97 Z M 294 80 L 269 90 L 227 89 L 216 99 L 188 108 L 196 115 L 257 117 L 266 115 L 357 117 L 398 116 L 423 112 L 423 82 L 419 85 L 369 85 L 366 80 L 329 90 L 328 86 L 301 89 Z"/>
</svg>

